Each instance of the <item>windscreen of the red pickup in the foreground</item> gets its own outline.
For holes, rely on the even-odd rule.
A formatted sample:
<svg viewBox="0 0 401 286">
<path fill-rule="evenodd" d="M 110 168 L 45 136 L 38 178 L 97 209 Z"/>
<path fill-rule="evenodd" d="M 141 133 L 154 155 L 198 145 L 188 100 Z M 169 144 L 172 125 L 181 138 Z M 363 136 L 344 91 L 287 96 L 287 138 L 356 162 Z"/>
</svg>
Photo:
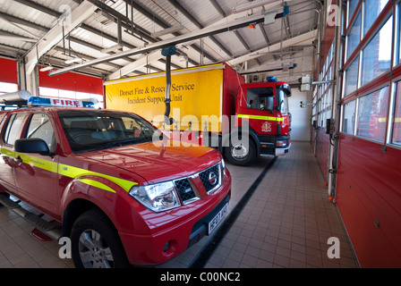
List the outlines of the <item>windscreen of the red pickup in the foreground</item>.
<svg viewBox="0 0 401 286">
<path fill-rule="evenodd" d="M 161 135 L 135 114 L 77 110 L 58 115 L 74 153 L 149 142 Z"/>
</svg>

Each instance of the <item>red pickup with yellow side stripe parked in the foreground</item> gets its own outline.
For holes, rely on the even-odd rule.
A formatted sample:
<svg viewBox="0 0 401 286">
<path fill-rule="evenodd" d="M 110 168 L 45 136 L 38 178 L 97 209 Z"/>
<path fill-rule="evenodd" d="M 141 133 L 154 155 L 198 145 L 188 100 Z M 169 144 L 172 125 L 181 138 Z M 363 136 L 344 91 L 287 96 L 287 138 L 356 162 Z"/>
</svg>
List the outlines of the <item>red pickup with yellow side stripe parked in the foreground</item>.
<svg viewBox="0 0 401 286">
<path fill-rule="evenodd" d="M 0 131 L 0 205 L 70 238 L 76 267 L 165 263 L 227 212 L 218 151 L 177 147 L 136 114 L 19 108 L 0 113 Z"/>
</svg>

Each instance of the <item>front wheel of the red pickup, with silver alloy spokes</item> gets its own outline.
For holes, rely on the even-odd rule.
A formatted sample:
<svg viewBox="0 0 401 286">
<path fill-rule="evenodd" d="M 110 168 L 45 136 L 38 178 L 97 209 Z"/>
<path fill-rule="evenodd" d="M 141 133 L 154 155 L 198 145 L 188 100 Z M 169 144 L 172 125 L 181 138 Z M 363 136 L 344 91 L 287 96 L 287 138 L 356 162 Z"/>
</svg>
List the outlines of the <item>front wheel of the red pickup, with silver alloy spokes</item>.
<svg viewBox="0 0 401 286">
<path fill-rule="evenodd" d="M 71 240 L 73 263 L 77 268 L 130 266 L 113 224 L 98 209 L 81 214 L 73 224 Z"/>
</svg>

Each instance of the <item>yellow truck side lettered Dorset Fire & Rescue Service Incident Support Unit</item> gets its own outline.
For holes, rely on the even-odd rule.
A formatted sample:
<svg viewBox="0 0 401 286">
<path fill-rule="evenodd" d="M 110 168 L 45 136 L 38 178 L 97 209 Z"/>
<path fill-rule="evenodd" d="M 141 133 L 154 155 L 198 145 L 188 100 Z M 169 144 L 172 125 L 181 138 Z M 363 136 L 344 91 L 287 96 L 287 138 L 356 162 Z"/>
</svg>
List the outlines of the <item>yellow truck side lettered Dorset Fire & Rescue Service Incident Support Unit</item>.
<svg viewBox="0 0 401 286">
<path fill-rule="evenodd" d="M 161 129 L 221 132 L 225 68 L 218 63 L 171 71 L 170 127 L 163 125 L 166 72 L 106 81 L 106 107 L 139 114 Z"/>
</svg>

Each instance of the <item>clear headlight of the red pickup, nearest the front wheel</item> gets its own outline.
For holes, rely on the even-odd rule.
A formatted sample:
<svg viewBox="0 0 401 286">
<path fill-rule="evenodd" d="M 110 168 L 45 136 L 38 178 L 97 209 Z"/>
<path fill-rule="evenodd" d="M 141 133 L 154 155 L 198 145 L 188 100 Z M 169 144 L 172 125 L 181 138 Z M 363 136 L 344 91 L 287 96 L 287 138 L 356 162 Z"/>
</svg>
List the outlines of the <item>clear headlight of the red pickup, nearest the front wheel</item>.
<svg viewBox="0 0 401 286">
<path fill-rule="evenodd" d="M 130 190 L 130 195 L 154 212 L 162 212 L 180 206 L 172 181 L 148 186 L 134 186 Z"/>
</svg>

